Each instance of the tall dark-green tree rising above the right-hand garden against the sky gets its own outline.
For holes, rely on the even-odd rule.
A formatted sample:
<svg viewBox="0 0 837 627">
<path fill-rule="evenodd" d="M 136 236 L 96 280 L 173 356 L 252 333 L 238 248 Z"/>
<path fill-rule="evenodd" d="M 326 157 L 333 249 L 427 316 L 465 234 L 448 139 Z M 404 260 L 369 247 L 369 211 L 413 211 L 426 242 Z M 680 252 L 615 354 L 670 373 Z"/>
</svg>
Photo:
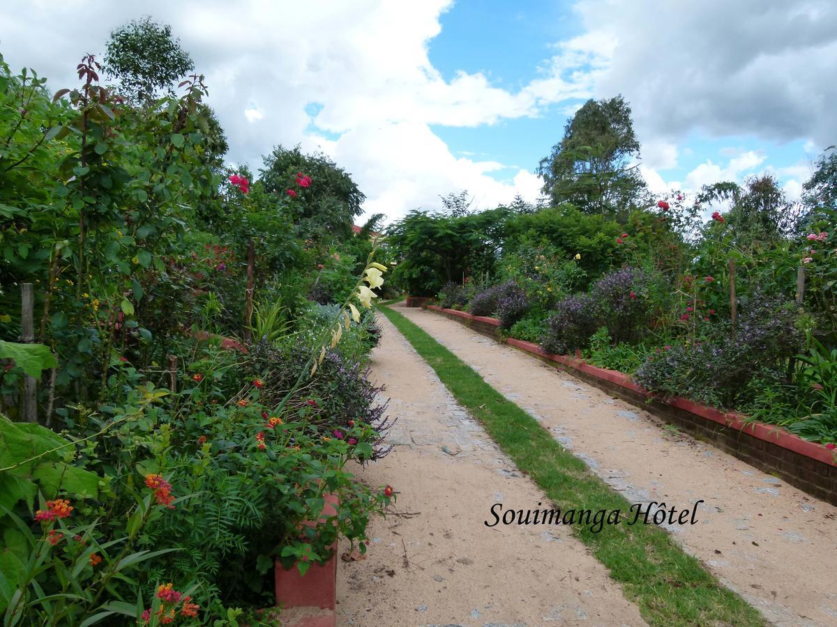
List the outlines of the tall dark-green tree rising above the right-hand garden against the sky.
<svg viewBox="0 0 837 627">
<path fill-rule="evenodd" d="M 585 213 L 627 217 L 645 204 L 647 190 L 635 163 L 639 141 L 621 95 L 588 100 L 564 127 L 537 169 L 554 205 L 572 203 Z"/>
</svg>

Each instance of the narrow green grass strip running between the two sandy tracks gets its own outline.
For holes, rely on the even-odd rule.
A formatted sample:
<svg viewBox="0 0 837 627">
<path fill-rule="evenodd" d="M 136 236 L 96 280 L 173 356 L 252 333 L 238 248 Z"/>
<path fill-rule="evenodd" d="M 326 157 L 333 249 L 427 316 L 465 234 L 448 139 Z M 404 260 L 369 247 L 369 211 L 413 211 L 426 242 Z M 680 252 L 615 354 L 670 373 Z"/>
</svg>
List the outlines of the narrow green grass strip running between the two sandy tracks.
<svg viewBox="0 0 837 627">
<path fill-rule="evenodd" d="M 625 596 L 639 606 L 649 624 L 765 624 L 756 609 L 721 586 L 668 533 L 655 525 L 628 526 L 634 516 L 629 511 L 632 503 L 565 451 L 531 415 L 402 314 L 386 307 L 381 311 L 436 371 L 457 402 L 485 426 L 506 455 L 557 507 L 594 512 L 619 509 L 627 517 L 622 524 L 605 525 L 599 533 L 573 525 L 573 533 L 622 584 Z"/>
</svg>

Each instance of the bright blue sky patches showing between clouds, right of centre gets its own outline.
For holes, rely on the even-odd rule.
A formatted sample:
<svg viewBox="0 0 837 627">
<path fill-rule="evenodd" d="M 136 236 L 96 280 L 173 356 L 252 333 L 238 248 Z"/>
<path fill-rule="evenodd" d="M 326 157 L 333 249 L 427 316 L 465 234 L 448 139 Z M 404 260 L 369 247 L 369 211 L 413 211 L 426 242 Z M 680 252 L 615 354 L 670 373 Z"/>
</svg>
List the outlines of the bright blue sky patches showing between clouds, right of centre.
<svg viewBox="0 0 837 627">
<path fill-rule="evenodd" d="M 492 84 L 512 91 L 537 78 L 556 42 L 576 37 L 584 29 L 573 3 L 456 3 L 439 21 L 441 32 L 429 42 L 428 50 L 431 63 L 444 79 L 452 80 L 462 71 L 482 73 Z M 491 171 L 488 176 L 509 182 L 521 167 L 537 169 L 538 161 L 560 140 L 573 107 L 583 102 L 563 100 L 543 107 L 537 115 L 500 120 L 493 125 L 431 125 L 431 129 L 457 155 L 505 164 L 506 168 Z M 757 133 L 710 135 L 700 125 L 680 135 L 676 144 L 676 164 L 655 168 L 665 181 L 687 186 L 687 176 L 701 164 L 711 161 L 722 166 L 734 155 L 752 152 L 763 161 L 737 172 L 738 180 L 769 169 L 780 181 L 793 181 L 787 190 L 790 196 L 798 194 L 797 185 L 803 182 L 800 179 L 806 167 L 818 153 L 809 138 L 776 140 Z"/>
</svg>

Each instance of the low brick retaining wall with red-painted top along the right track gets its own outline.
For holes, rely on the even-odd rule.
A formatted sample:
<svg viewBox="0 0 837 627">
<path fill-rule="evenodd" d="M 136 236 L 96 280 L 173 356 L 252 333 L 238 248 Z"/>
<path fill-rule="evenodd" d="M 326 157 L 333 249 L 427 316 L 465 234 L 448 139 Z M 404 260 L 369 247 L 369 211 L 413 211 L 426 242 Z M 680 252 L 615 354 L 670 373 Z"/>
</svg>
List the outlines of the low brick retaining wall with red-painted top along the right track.
<svg viewBox="0 0 837 627">
<path fill-rule="evenodd" d="M 500 339 L 500 322 L 496 319 L 435 305 L 426 308 L 480 334 Z M 814 497 L 837 505 L 837 464 L 834 454 L 822 445 L 804 441 L 778 426 L 749 421 L 747 416 L 736 412 L 721 412 L 676 397 L 665 402 L 636 385 L 628 375 L 597 368 L 578 357 L 548 354 L 537 344 L 520 339 L 503 341 L 675 424 L 700 440 L 711 442 L 764 472 L 783 478 Z"/>
</svg>

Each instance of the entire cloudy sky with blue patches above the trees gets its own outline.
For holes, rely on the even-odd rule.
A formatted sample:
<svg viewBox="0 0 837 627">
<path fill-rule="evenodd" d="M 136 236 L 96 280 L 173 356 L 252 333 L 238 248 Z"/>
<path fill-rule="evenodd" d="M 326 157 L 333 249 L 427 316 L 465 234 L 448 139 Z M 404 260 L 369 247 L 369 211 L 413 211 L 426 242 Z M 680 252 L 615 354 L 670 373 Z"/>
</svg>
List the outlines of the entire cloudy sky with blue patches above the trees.
<svg viewBox="0 0 837 627">
<path fill-rule="evenodd" d="M 771 171 L 797 197 L 837 143 L 833 0 L 5 0 L 0 53 L 57 90 L 143 15 L 206 74 L 230 161 L 323 150 L 390 219 L 464 189 L 535 201 L 588 98 L 629 101 L 659 193 Z"/>
</svg>

